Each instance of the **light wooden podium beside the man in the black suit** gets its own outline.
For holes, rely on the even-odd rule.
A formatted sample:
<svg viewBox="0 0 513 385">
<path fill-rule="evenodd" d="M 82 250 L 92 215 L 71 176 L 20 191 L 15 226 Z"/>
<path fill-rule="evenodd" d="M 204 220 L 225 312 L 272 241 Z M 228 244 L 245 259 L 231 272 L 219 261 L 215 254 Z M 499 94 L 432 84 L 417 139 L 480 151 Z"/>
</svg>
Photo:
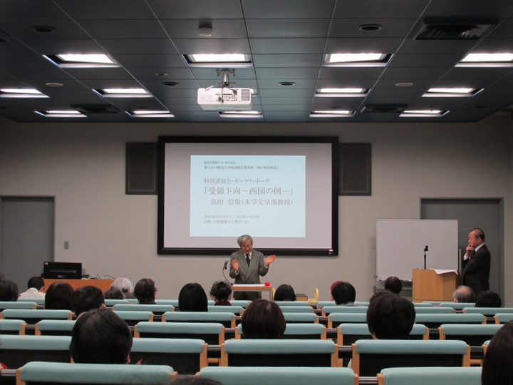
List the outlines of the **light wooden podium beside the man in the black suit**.
<svg viewBox="0 0 513 385">
<path fill-rule="evenodd" d="M 456 272 L 437 274 L 432 269 L 413 269 L 413 302 L 452 301 L 459 276 Z"/>
</svg>

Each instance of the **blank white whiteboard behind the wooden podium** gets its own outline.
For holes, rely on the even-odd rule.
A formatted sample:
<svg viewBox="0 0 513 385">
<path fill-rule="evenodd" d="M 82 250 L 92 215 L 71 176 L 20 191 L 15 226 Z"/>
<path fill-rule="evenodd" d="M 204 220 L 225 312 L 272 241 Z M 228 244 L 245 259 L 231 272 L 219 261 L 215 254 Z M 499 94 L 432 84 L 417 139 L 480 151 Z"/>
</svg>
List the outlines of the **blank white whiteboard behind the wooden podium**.
<svg viewBox="0 0 513 385">
<path fill-rule="evenodd" d="M 412 279 L 413 269 L 457 270 L 457 220 L 377 220 L 376 276 Z"/>
</svg>

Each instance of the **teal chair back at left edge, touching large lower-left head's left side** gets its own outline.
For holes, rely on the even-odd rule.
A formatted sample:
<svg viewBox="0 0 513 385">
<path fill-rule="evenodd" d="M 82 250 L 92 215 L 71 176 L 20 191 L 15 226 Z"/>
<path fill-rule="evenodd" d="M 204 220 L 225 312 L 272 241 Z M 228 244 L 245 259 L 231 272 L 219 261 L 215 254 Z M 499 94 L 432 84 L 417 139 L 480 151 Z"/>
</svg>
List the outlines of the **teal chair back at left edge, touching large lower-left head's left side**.
<svg viewBox="0 0 513 385">
<path fill-rule="evenodd" d="M 30 361 L 70 362 L 69 336 L 11 336 L 2 335 L 0 362 L 9 369 L 24 366 Z"/>
</svg>

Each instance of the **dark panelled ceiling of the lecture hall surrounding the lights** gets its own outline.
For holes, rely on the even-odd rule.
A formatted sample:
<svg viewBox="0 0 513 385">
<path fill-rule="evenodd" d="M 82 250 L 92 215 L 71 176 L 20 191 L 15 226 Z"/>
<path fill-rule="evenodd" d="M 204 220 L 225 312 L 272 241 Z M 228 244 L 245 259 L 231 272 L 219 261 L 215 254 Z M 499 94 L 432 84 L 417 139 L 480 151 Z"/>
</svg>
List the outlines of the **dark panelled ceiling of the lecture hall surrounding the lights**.
<svg viewBox="0 0 513 385">
<path fill-rule="evenodd" d="M 512 61 L 459 64 L 470 53 L 513 52 L 510 0 L 3 0 L 0 7 L 0 116 L 19 122 L 474 122 L 513 104 Z M 65 53 L 103 53 L 115 66 L 58 66 L 45 57 Z M 195 53 L 248 59 L 195 66 L 187 61 Z M 336 53 L 383 60 L 326 63 Z M 234 88 L 252 88 L 256 118 L 198 105 L 197 89 L 217 87 L 224 70 Z M 26 88 L 45 97 L 7 97 Z M 110 88 L 147 95 L 101 92 Z M 358 91 L 331 93 L 341 88 Z M 70 110 L 85 116 L 51 115 Z"/>
</svg>

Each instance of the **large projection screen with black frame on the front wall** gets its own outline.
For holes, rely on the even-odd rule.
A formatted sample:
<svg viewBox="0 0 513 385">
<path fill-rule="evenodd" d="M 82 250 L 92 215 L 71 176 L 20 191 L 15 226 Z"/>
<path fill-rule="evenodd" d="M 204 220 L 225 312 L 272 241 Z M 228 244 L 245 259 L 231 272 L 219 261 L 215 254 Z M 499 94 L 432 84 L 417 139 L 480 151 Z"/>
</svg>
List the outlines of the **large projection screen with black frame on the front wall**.
<svg viewBox="0 0 513 385">
<path fill-rule="evenodd" d="M 159 138 L 159 254 L 338 253 L 338 138 Z"/>
</svg>

